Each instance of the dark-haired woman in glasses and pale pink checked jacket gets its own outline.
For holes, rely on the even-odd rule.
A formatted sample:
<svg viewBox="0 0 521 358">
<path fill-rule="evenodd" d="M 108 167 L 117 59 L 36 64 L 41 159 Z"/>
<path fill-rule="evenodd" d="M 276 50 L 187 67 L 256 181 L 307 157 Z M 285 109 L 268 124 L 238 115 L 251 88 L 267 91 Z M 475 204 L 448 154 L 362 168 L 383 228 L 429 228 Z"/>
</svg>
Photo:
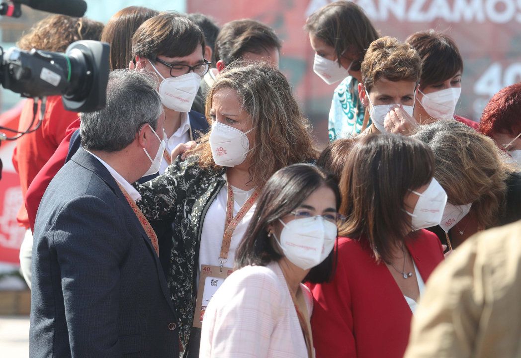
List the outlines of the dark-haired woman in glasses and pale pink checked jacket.
<svg viewBox="0 0 521 358">
<path fill-rule="evenodd" d="M 206 309 L 201 357 L 315 356 L 302 281 L 331 275 L 339 204 L 336 180 L 317 166 L 295 164 L 267 181 L 236 270 Z"/>
</svg>

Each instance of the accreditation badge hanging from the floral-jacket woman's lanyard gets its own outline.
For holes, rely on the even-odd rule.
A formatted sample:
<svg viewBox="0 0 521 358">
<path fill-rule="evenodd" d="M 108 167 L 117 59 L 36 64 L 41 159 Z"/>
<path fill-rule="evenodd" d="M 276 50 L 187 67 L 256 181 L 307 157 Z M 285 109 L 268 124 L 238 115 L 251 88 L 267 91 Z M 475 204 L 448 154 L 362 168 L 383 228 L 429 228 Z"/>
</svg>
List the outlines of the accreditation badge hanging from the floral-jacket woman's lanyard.
<svg viewBox="0 0 521 358">
<path fill-rule="evenodd" d="M 232 273 L 233 269 L 229 267 L 201 265 L 201 277 L 199 278 L 199 289 L 197 290 L 197 301 L 195 303 L 194 327 L 201 328 L 208 303 L 214 297 L 222 282 Z"/>
</svg>

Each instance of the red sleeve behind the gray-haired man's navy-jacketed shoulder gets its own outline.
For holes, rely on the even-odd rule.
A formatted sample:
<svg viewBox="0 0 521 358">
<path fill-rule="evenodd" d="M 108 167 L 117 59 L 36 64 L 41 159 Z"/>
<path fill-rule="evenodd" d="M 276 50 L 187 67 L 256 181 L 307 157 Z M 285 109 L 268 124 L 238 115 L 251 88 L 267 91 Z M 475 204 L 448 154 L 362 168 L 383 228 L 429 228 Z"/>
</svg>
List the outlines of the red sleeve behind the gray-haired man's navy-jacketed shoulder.
<svg viewBox="0 0 521 358">
<path fill-rule="evenodd" d="M 42 169 L 36 174 L 33 181 L 31 182 L 29 188 L 26 193 L 26 209 L 27 216 L 29 219 L 29 226 L 31 230 L 34 231 L 34 221 L 36 220 L 36 212 L 38 211 L 38 206 L 40 206 L 40 201 L 42 200 L 43 193 L 47 189 L 47 186 L 54 178 L 58 170 L 65 164 L 65 158 L 67 157 L 67 153 L 69 152 L 69 142 L 72 136 L 72 133 L 75 132 L 80 127 L 80 118 L 77 116 L 76 120 L 74 120 L 69 127 L 64 130 L 64 133 L 67 133 L 64 139 L 58 145 L 54 154 L 49 158 L 47 163 L 42 167 Z"/>
</svg>

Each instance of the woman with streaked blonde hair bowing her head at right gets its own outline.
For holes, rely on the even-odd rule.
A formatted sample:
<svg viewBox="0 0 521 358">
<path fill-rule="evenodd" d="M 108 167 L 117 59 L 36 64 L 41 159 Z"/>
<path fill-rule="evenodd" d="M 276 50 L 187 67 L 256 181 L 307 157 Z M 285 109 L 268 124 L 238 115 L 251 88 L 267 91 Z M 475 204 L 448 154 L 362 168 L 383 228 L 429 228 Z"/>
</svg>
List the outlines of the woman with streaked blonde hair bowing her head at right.
<svg viewBox="0 0 521 358">
<path fill-rule="evenodd" d="M 480 230 L 521 219 L 521 173 L 492 139 L 455 120 L 418 127 L 414 138 L 434 153 L 435 177 L 448 195 L 439 226 L 452 247 Z"/>
</svg>

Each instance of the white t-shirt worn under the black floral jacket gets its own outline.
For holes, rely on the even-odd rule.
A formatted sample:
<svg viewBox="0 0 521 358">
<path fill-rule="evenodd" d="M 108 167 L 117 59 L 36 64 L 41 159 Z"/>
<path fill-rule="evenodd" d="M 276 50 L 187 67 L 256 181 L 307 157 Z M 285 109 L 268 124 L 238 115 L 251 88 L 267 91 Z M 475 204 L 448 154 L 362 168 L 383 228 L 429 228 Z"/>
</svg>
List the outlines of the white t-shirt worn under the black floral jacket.
<svg viewBox="0 0 521 358">
<path fill-rule="evenodd" d="M 226 179 L 226 176 L 223 176 Z M 253 194 L 255 189 L 245 191 L 232 186 L 233 190 L 233 216 L 237 215 L 242 205 Z M 201 244 L 199 246 L 199 266 L 197 267 L 197 281 L 201 274 L 201 265 L 219 266 L 219 254 L 221 252 L 222 236 L 225 233 L 226 203 L 228 200 L 228 183 L 226 183 L 206 212 L 203 220 L 203 231 L 201 233 Z M 255 212 L 257 203 L 254 203 L 250 210 L 244 215 L 240 223 L 233 231 L 228 252 L 228 261 L 225 267 L 233 267 L 235 260 L 235 250 L 242 240 L 250 219 Z"/>
</svg>

